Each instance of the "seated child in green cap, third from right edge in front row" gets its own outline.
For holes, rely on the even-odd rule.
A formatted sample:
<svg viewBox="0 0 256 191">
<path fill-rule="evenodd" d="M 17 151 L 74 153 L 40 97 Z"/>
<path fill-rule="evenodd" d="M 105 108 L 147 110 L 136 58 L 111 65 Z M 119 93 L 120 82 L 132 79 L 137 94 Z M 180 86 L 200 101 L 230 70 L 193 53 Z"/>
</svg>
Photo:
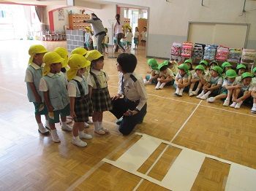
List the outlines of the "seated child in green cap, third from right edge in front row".
<svg viewBox="0 0 256 191">
<path fill-rule="evenodd" d="M 208 102 L 214 102 L 218 99 L 226 98 L 223 106 L 228 106 L 230 104 L 230 98 L 233 94 L 233 90 L 237 88 L 241 89 L 241 85 L 237 85 L 236 82 L 236 71 L 234 71 L 233 69 L 229 69 L 226 71 L 226 75 L 227 77 L 222 83 L 222 90 L 220 90 L 220 94 L 215 97 L 208 98 Z"/>
</svg>

